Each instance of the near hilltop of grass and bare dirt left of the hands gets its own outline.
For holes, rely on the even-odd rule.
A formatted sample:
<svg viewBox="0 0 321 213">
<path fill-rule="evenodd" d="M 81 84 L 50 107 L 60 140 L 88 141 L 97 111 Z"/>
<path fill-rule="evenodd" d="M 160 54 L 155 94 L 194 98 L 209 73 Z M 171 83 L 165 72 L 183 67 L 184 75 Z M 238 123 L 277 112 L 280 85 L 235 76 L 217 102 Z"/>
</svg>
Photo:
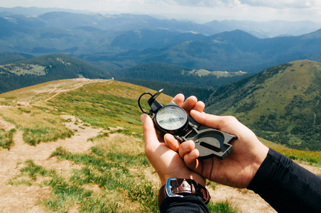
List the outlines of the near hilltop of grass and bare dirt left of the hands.
<svg viewBox="0 0 321 213">
<path fill-rule="evenodd" d="M 1 211 L 155 212 L 142 92 L 155 91 L 72 79 L 0 94 Z"/>
</svg>

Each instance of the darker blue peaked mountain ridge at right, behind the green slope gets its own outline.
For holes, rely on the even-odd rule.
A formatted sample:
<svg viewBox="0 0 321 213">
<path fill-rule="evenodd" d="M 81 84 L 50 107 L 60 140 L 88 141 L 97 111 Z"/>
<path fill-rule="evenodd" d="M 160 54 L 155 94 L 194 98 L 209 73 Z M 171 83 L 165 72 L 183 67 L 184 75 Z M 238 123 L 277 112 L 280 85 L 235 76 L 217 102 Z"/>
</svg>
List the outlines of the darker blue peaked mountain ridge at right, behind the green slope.
<svg viewBox="0 0 321 213">
<path fill-rule="evenodd" d="M 113 55 L 113 59 L 132 63 L 162 61 L 207 70 L 259 72 L 266 67 L 308 59 L 313 55 L 321 55 L 321 30 L 300 36 L 265 39 L 244 31 L 231 31 L 163 48 L 121 52 Z M 111 60 L 109 54 L 98 57 L 101 58 L 97 60 Z"/>
</svg>

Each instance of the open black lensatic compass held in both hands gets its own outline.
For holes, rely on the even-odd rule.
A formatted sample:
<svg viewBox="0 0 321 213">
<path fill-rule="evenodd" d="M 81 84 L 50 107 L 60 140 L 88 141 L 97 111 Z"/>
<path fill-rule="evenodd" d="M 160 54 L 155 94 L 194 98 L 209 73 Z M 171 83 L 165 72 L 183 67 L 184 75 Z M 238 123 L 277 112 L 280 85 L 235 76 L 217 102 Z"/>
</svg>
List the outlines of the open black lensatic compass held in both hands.
<svg viewBox="0 0 321 213">
<path fill-rule="evenodd" d="M 180 143 L 192 140 L 195 148 L 198 149 L 200 155 L 198 158 L 207 159 L 216 157 L 224 159 L 233 151 L 230 142 L 236 139 L 229 133 L 212 129 L 208 126 L 202 126 L 197 123 L 192 116 L 187 114 L 185 109 L 179 107 L 175 102 L 170 102 L 166 106 L 156 101 L 156 97 L 163 92 L 160 89 L 156 94 L 144 92 L 138 98 L 138 106 L 145 114 L 152 116 L 156 131 L 161 135 L 165 133 L 172 134 Z M 144 111 L 141 107 L 141 97 L 151 95 L 148 99 L 148 105 L 151 107 L 149 112 Z"/>
</svg>

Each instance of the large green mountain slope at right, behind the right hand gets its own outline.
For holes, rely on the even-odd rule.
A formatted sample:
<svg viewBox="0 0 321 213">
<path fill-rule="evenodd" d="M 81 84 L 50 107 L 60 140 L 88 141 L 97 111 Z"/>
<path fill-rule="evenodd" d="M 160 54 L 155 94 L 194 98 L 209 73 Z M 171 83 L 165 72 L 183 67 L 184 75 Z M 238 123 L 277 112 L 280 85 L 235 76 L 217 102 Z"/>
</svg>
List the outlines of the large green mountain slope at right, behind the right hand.
<svg viewBox="0 0 321 213">
<path fill-rule="evenodd" d="M 232 114 L 259 136 L 321 151 L 321 63 L 298 60 L 217 89 L 213 114 Z"/>
</svg>

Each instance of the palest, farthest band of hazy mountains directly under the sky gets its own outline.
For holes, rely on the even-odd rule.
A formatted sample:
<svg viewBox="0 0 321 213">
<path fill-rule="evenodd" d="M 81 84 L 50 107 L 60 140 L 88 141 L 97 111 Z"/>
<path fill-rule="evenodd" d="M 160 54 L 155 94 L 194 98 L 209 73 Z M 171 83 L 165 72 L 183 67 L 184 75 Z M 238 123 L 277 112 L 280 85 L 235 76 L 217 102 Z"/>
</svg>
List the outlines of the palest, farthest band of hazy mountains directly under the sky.
<svg viewBox="0 0 321 213">
<path fill-rule="evenodd" d="M 60 13 L 62 12 L 62 13 Z M 71 28 L 77 28 L 79 26 L 92 26 L 102 30 L 113 31 L 131 31 L 138 28 L 164 28 L 172 31 L 193 31 L 195 33 L 204 33 L 212 35 L 214 33 L 222 33 L 224 31 L 241 30 L 251 33 L 258 38 L 270 38 L 280 35 L 303 35 L 312 31 L 317 31 L 321 28 L 321 23 L 312 21 L 236 21 L 236 20 L 224 20 L 224 21 L 210 21 L 205 24 L 197 24 L 192 21 L 176 21 L 153 18 L 151 16 L 137 16 L 131 14 L 120 15 L 99 15 L 92 14 L 89 11 L 75 11 L 70 9 L 58 9 L 58 8 L 4 8 L 0 7 L 0 17 L 6 16 L 40 16 L 44 13 L 48 13 L 43 16 L 48 21 L 48 24 L 53 24 L 60 20 L 61 17 L 67 17 L 71 19 L 63 19 L 58 28 L 70 26 Z M 78 13 L 78 15 L 70 16 L 67 13 Z M 82 14 L 82 15 L 80 15 Z M 77 19 L 80 18 L 80 19 Z M 84 20 L 85 18 L 85 20 Z M 82 23 L 81 21 L 85 21 Z"/>
</svg>

